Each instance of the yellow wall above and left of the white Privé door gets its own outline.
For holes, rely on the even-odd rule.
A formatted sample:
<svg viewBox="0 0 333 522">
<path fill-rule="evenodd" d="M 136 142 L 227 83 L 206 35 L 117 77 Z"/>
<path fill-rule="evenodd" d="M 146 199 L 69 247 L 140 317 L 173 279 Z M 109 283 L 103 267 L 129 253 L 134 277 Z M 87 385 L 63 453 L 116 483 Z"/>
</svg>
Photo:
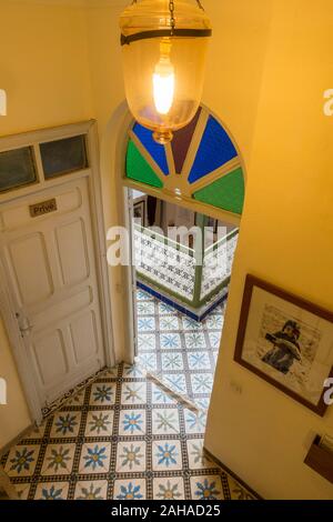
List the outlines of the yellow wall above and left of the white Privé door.
<svg viewBox="0 0 333 522">
<path fill-rule="evenodd" d="M 84 11 L 1 1 L 0 20 L 0 86 L 8 94 L 0 135 L 90 119 Z M 31 423 L 1 318 L 0 377 L 9 391 L 0 405 L 1 449 Z"/>
</svg>

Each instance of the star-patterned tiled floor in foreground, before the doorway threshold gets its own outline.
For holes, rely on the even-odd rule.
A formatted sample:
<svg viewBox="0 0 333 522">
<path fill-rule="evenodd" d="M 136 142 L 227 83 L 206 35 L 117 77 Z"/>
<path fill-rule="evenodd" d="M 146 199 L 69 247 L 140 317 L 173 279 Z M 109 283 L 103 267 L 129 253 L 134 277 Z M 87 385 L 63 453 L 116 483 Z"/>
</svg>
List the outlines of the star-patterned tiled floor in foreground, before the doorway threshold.
<svg viewBox="0 0 333 522">
<path fill-rule="evenodd" d="M 251 499 L 204 456 L 204 424 L 203 411 L 120 364 L 0 461 L 22 500 Z"/>
</svg>

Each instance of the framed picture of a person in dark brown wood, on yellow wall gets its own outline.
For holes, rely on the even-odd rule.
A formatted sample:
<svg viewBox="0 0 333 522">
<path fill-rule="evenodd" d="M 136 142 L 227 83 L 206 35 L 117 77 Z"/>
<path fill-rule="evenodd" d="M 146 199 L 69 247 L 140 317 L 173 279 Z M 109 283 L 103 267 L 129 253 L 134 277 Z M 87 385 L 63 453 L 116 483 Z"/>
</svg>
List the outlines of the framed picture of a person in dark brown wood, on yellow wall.
<svg viewBox="0 0 333 522">
<path fill-rule="evenodd" d="M 324 415 L 333 312 L 248 275 L 234 360 Z"/>
</svg>

